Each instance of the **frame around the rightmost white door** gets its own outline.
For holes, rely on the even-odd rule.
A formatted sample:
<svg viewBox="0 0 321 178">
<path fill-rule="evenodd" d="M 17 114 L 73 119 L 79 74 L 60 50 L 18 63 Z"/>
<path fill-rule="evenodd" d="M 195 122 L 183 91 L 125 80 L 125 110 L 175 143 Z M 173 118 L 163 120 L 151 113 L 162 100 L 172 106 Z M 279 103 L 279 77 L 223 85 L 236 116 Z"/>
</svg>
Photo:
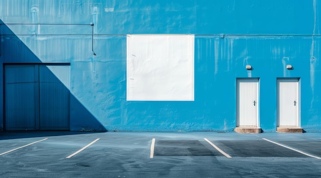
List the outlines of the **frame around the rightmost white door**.
<svg viewBox="0 0 321 178">
<path fill-rule="evenodd" d="M 279 82 L 296 82 L 296 99 L 297 99 L 297 109 L 295 126 L 280 126 L 279 124 Z M 277 127 L 301 127 L 301 80 L 299 77 L 289 77 L 289 78 L 277 78 L 276 79 L 276 97 L 277 97 Z"/>
</svg>

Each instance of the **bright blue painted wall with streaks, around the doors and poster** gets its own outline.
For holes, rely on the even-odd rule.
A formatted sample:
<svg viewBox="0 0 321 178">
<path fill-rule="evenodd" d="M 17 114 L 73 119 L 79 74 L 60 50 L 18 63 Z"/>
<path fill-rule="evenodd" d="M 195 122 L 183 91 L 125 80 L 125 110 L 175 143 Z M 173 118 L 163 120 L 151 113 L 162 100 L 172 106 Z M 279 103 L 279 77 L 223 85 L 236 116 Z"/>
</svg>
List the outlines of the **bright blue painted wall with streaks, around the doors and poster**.
<svg viewBox="0 0 321 178">
<path fill-rule="evenodd" d="M 321 131 L 320 8 L 317 0 L 1 1 L 0 60 L 70 63 L 71 130 L 231 131 L 236 78 L 258 77 L 260 127 L 276 131 L 276 79 L 299 77 L 301 126 Z M 195 101 L 126 101 L 126 34 L 195 34 Z"/>
</svg>

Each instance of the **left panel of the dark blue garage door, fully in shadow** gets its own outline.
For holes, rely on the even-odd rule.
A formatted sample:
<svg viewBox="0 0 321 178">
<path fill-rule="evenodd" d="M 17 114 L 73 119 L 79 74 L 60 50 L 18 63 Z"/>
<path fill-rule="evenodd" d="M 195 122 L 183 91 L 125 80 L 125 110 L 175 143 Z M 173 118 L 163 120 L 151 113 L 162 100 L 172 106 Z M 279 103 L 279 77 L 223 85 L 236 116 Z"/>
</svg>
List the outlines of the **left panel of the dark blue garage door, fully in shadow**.
<svg viewBox="0 0 321 178">
<path fill-rule="evenodd" d="M 35 65 L 5 65 L 5 129 L 37 129 L 38 76 Z"/>
</svg>

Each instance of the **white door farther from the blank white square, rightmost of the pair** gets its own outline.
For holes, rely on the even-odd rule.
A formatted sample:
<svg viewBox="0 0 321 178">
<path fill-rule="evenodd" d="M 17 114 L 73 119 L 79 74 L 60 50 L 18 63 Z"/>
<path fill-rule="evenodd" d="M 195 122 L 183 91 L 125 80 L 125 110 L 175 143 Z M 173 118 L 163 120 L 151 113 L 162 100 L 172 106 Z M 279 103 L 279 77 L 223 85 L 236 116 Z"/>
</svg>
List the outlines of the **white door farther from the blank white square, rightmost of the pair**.
<svg viewBox="0 0 321 178">
<path fill-rule="evenodd" d="M 278 80 L 278 127 L 298 127 L 298 81 Z"/>
</svg>

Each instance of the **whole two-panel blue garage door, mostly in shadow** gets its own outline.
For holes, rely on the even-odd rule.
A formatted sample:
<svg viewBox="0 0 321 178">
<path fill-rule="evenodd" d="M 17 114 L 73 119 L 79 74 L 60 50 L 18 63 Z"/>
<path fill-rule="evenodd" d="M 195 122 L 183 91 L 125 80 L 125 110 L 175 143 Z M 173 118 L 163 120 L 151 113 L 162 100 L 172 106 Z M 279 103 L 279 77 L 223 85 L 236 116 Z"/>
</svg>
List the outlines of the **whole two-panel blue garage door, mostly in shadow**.
<svg viewBox="0 0 321 178">
<path fill-rule="evenodd" d="M 5 129 L 69 130 L 69 65 L 5 65 Z"/>
</svg>

